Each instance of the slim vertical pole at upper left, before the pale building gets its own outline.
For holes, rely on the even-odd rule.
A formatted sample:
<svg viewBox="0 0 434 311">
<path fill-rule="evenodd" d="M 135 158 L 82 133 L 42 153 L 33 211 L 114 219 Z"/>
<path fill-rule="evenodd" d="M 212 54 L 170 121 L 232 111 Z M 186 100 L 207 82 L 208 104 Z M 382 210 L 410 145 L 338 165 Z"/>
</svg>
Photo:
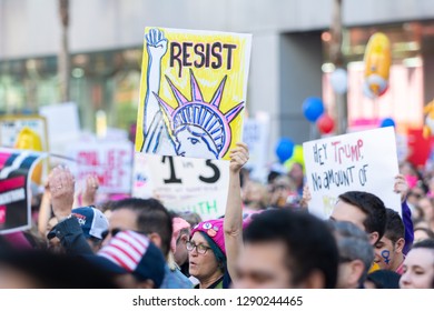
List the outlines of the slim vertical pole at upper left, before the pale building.
<svg viewBox="0 0 434 311">
<path fill-rule="evenodd" d="M 60 99 L 62 102 L 69 101 L 69 0 L 59 0 L 59 14 L 61 22 L 61 47 L 58 58 L 58 76 L 60 84 Z"/>
</svg>

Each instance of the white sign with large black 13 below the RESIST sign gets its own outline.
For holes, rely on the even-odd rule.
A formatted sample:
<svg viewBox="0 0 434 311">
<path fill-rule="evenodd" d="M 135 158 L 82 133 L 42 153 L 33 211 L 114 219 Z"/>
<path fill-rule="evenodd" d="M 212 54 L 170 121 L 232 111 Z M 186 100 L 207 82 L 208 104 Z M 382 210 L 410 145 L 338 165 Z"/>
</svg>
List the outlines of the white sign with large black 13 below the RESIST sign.
<svg viewBox="0 0 434 311">
<path fill-rule="evenodd" d="M 203 220 L 225 214 L 229 162 L 136 153 L 132 195 L 158 198 L 175 212 Z"/>
</svg>

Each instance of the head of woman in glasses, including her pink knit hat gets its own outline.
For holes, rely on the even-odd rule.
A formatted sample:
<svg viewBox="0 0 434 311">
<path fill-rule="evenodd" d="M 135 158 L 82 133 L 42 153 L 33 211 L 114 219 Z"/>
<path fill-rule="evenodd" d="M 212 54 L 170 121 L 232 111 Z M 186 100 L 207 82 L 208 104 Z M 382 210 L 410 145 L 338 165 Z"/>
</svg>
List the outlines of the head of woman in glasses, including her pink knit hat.
<svg viewBox="0 0 434 311">
<path fill-rule="evenodd" d="M 187 242 L 189 273 L 201 284 L 218 280 L 226 271 L 223 219 L 200 222 Z"/>
</svg>

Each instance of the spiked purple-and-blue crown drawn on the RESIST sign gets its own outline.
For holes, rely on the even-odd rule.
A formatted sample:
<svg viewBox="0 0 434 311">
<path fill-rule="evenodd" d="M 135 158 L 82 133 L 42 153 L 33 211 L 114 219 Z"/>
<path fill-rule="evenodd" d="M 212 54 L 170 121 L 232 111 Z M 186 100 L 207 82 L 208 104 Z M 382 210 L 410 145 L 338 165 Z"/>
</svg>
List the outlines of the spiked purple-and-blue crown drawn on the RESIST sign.
<svg viewBox="0 0 434 311">
<path fill-rule="evenodd" d="M 200 88 L 191 69 L 191 100 L 188 100 L 174 86 L 174 83 L 167 76 L 166 79 L 175 96 L 178 107 L 174 109 L 158 94 L 154 94 L 157 98 L 160 107 L 162 107 L 166 116 L 170 120 L 170 127 L 172 132 L 176 134 L 176 132 L 185 126 L 198 127 L 203 129 L 213 139 L 219 157 L 223 157 L 230 144 L 231 134 L 229 123 L 243 110 L 243 102 L 238 103 L 226 113 L 223 113 L 219 110 L 227 76 L 223 78 L 209 103 L 204 100 L 204 97 L 200 92 Z"/>
</svg>

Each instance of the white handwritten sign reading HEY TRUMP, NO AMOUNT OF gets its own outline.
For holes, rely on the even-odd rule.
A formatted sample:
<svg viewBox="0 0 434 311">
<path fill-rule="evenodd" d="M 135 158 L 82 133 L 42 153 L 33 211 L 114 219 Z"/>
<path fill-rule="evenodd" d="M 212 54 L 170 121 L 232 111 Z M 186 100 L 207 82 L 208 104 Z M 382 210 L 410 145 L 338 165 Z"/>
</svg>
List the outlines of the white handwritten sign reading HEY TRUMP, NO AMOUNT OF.
<svg viewBox="0 0 434 311">
<path fill-rule="evenodd" d="M 398 161 L 392 127 L 308 141 L 303 150 L 314 214 L 328 218 L 346 191 L 371 192 L 401 214 L 400 194 L 393 191 Z"/>
</svg>

